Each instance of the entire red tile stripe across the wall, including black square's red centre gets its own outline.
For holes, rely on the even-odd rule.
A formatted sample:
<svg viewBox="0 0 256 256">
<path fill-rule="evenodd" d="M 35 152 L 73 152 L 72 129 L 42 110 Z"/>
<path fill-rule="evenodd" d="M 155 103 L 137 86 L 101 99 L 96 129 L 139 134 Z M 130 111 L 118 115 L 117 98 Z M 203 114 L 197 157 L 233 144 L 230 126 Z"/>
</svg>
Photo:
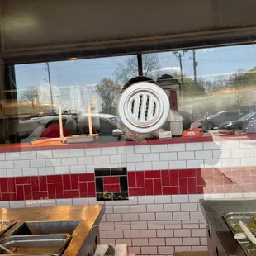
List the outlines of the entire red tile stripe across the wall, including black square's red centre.
<svg viewBox="0 0 256 256">
<path fill-rule="evenodd" d="M 256 192 L 256 167 L 128 172 L 128 187 L 130 196 Z M 119 178 L 104 178 L 104 190 L 120 192 Z M 0 201 L 79 197 L 96 197 L 93 173 L 0 178 Z"/>
</svg>

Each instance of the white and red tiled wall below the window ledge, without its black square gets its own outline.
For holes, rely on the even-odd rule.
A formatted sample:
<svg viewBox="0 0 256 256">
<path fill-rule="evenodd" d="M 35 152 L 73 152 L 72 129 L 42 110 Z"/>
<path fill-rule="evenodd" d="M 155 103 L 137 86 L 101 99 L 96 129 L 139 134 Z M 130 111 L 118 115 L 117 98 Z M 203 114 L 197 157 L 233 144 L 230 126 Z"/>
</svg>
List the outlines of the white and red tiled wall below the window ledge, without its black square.
<svg viewBox="0 0 256 256">
<path fill-rule="evenodd" d="M 102 201 L 96 201 L 95 197 L 95 168 L 127 168 L 129 183 L 131 173 L 144 173 L 146 180 L 147 173 L 153 172 L 148 179 L 153 184 L 154 180 L 162 184 L 161 194 L 150 195 L 146 185 L 140 187 L 137 184 L 129 189 L 129 200 L 105 202 L 107 209 L 100 226 L 101 243 L 128 244 L 130 252 L 137 255 L 206 250 L 206 226 L 198 208 L 199 199 L 254 197 L 255 166 L 256 140 L 35 151 L 22 151 L 21 148 L 21 152 L 0 154 L 0 206 L 98 204 Z M 212 174 L 215 169 L 220 175 L 224 173 L 235 180 L 235 185 L 231 186 L 224 176 L 217 175 L 216 178 Z M 173 190 L 164 190 L 169 188 L 164 187 L 167 185 L 162 176 L 166 170 L 170 175 L 179 175 L 176 194 Z M 195 176 L 198 172 L 206 184 L 199 184 Z M 155 173 L 160 176 L 154 177 Z M 68 188 L 65 187 L 67 179 Z M 193 194 L 182 192 L 184 185 L 181 181 L 184 180 L 187 183 L 196 181 L 197 191 Z M 217 181 L 221 184 L 225 181 L 220 186 L 222 191 L 216 190 Z M 64 193 L 61 197 L 57 192 L 59 186 Z M 88 186 L 88 193 L 83 192 L 82 186 Z M 230 190 L 223 190 L 226 187 Z M 234 190 L 234 187 L 242 187 L 242 190 Z M 51 189 L 54 195 L 50 198 Z M 89 190 L 94 192 L 90 194 Z M 170 193 L 166 194 L 168 191 Z M 203 195 L 199 194 L 202 192 Z M 27 193 L 31 193 L 30 199 L 25 198 Z"/>
</svg>

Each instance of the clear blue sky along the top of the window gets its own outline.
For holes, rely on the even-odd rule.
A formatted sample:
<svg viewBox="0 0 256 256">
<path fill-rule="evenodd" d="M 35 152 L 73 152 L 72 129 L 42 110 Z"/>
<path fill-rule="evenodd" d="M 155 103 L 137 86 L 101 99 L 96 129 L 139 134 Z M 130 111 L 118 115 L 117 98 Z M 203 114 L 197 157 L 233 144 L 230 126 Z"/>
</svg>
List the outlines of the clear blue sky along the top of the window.
<svg viewBox="0 0 256 256">
<path fill-rule="evenodd" d="M 172 52 L 158 54 L 160 68 L 179 67 L 178 58 Z M 197 50 L 197 76 L 211 77 L 221 73 L 234 73 L 238 69 L 249 70 L 256 66 L 255 45 L 238 45 Z M 101 78 L 114 78 L 118 63 L 126 56 L 98 59 L 69 60 L 50 63 L 53 85 L 87 85 L 99 83 Z M 193 75 L 192 50 L 183 56 L 183 70 L 187 76 Z M 45 64 L 16 65 L 17 89 L 39 86 L 47 83 Z"/>
</svg>

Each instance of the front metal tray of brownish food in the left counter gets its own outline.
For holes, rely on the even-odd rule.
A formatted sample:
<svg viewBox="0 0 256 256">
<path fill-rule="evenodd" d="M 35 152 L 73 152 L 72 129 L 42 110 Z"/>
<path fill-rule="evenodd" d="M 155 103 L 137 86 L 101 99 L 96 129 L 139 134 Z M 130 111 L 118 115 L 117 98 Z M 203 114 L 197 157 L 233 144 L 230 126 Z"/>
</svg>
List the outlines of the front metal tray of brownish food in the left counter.
<svg viewBox="0 0 256 256">
<path fill-rule="evenodd" d="M 16 255 L 61 255 L 71 239 L 72 235 L 69 234 L 13 235 L 0 239 L 0 244 L 7 249 L 21 248 L 21 252 L 16 252 Z M 1 249 L 0 254 L 9 255 Z"/>
</svg>

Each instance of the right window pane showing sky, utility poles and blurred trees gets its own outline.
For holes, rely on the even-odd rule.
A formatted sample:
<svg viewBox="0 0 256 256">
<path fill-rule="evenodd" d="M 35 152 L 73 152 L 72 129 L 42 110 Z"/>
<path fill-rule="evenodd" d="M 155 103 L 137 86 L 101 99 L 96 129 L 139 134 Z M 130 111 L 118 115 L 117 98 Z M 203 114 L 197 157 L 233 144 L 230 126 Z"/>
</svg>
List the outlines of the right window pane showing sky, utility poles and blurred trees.
<svg viewBox="0 0 256 256">
<path fill-rule="evenodd" d="M 190 113 L 194 121 L 216 114 L 230 121 L 239 113 L 218 112 L 254 111 L 255 54 L 255 45 L 145 54 L 144 74 L 154 79 L 171 75 L 179 84 L 178 110 Z"/>
</svg>

